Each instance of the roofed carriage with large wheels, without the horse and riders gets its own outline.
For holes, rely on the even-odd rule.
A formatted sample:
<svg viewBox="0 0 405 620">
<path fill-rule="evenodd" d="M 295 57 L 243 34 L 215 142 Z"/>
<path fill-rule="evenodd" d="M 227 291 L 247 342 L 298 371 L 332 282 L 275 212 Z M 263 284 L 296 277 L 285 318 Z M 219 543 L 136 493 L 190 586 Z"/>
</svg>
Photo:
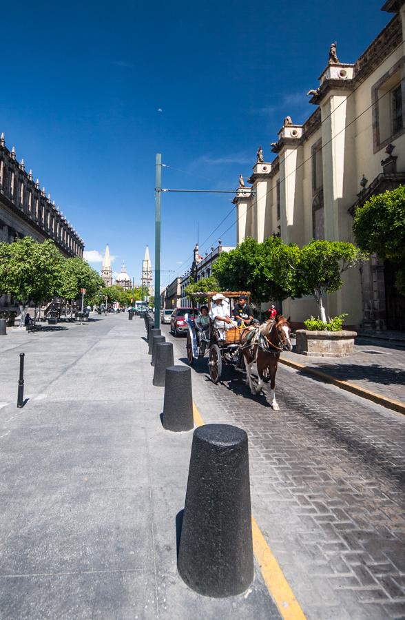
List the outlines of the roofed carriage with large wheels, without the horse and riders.
<svg viewBox="0 0 405 620">
<path fill-rule="evenodd" d="M 195 293 L 195 299 L 207 299 L 207 305 L 211 309 L 212 298 L 218 293 Z M 221 293 L 227 298 L 229 304 L 229 316 L 232 316 L 233 305 L 245 295 L 249 303 L 249 292 L 224 291 Z M 190 366 L 205 357 L 208 352 L 209 376 L 214 383 L 218 383 L 222 375 L 222 366 L 236 366 L 240 361 L 240 333 L 243 327 L 218 328 L 210 320 L 209 327 L 205 331 L 196 329 L 195 320 L 187 316 L 189 331 L 187 333 L 187 361 Z"/>
</svg>

